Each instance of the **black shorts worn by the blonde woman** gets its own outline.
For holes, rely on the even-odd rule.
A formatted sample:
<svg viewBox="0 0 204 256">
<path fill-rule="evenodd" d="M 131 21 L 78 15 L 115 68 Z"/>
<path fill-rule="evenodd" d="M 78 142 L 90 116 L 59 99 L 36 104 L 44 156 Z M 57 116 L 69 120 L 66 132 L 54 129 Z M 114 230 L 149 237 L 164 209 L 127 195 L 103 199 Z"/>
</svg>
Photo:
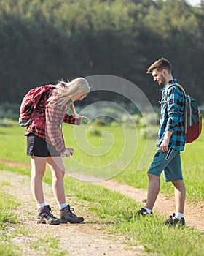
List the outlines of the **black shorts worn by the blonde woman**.
<svg viewBox="0 0 204 256">
<path fill-rule="evenodd" d="M 27 155 L 36 157 L 60 157 L 56 148 L 34 133 L 27 136 Z"/>
</svg>

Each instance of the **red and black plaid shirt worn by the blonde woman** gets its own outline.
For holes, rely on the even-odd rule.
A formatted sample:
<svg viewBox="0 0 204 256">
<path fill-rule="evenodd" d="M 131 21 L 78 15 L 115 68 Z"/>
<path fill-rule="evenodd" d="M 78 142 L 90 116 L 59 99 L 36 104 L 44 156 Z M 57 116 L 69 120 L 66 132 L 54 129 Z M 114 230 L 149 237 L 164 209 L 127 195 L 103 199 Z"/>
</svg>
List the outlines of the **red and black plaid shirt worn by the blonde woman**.
<svg viewBox="0 0 204 256">
<path fill-rule="evenodd" d="M 73 115 L 68 115 L 67 108 L 62 108 L 60 105 L 55 105 L 54 102 L 48 104 L 47 99 L 52 95 L 52 91 L 47 91 L 42 95 L 39 105 L 36 108 L 34 121 L 26 129 L 25 135 L 34 133 L 47 143 L 55 146 L 60 154 L 66 151 L 63 140 L 62 123 L 81 124 L 79 119 Z"/>
</svg>

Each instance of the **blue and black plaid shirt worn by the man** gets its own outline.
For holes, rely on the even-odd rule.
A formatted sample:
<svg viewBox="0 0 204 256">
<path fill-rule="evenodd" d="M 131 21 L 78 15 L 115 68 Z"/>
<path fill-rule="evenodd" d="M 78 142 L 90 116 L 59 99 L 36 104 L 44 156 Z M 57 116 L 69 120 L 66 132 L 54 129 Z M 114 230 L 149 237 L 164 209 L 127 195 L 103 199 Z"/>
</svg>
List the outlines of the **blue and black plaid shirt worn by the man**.
<svg viewBox="0 0 204 256">
<path fill-rule="evenodd" d="M 171 86 L 168 89 L 167 99 L 165 101 L 165 90 L 170 83 L 176 83 L 176 79 L 168 82 L 162 89 L 161 112 L 160 112 L 160 130 L 157 139 L 157 147 L 164 139 L 165 132 L 173 132 L 170 137 L 169 146 L 177 151 L 184 151 L 185 146 L 185 128 L 184 128 L 184 93 L 178 86 Z"/>
</svg>

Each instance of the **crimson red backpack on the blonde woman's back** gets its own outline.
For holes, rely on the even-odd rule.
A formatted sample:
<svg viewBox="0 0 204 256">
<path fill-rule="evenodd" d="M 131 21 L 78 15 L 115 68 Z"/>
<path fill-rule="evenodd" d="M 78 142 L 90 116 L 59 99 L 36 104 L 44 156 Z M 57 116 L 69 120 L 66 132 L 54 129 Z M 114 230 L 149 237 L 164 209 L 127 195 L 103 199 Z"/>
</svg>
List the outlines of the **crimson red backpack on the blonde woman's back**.
<svg viewBox="0 0 204 256">
<path fill-rule="evenodd" d="M 36 107 L 39 104 L 42 94 L 47 91 L 52 91 L 55 88 L 55 86 L 46 85 L 39 86 L 28 91 L 20 105 L 20 117 L 18 124 L 21 127 L 26 127 L 33 121 L 34 113 L 36 112 Z"/>
</svg>

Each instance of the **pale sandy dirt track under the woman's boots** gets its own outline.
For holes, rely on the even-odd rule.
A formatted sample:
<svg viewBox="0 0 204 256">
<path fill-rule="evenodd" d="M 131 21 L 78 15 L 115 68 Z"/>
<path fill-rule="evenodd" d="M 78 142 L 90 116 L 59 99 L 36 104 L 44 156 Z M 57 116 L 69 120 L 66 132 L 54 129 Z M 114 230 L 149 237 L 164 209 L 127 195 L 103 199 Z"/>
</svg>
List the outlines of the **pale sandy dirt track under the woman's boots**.
<svg viewBox="0 0 204 256">
<path fill-rule="evenodd" d="M 118 235 L 110 235 L 103 230 L 103 225 L 38 225 L 34 221 L 36 205 L 31 195 L 30 178 L 28 176 L 0 171 L 0 187 L 9 195 L 15 195 L 21 203 L 17 208 L 17 214 L 23 220 L 26 229 L 32 234 L 32 237 L 17 236 L 12 242 L 20 245 L 22 255 L 38 255 L 34 249 L 25 244 L 30 243 L 35 238 L 43 237 L 45 234 L 51 234 L 54 238 L 60 239 L 60 249 L 68 249 L 68 255 L 86 256 L 86 255 L 141 255 L 143 246 L 132 246 L 127 249 L 125 239 Z M 49 203 L 55 206 L 55 200 L 52 199 L 52 189 L 44 184 L 45 198 L 49 198 Z M 51 199 L 51 200 L 50 200 Z M 79 208 L 75 207 L 76 212 Z M 78 211 L 77 211 L 78 210 Z M 52 210 L 55 216 L 58 216 L 58 209 Z M 10 230 L 12 232 L 12 230 Z M 23 246 L 24 244 L 24 246 Z M 42 255 L 43 252 L 42 252 Z M 144 254 L 142 254 L 144 255 Z"/>
</svg>

